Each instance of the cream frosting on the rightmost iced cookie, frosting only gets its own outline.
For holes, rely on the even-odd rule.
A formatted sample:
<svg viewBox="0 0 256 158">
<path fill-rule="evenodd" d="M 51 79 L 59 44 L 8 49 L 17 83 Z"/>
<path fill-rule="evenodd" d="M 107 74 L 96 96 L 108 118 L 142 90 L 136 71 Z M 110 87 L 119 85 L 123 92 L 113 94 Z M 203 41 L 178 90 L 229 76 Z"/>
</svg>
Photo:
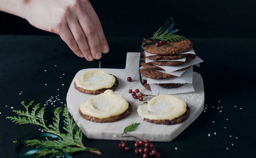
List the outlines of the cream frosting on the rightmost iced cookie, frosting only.
<svg viewBox="0 0 256 158">
<path fill-rule="evenodd" d="M 137 109 L 141 118 L 173 120 L 186 112 L 186 103 L 173 95 L 158 95 Z"/>
</svg>

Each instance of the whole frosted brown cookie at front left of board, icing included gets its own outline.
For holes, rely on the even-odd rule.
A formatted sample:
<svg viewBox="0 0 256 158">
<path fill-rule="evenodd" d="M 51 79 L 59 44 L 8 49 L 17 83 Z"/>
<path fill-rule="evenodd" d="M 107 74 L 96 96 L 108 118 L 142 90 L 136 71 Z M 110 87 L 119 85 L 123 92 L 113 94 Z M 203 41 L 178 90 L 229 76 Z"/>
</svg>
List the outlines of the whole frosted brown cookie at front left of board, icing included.
<svg viewBox="0 0 256 158">
<path fill-rule="evenodd" d="M 131 104 L 122 96 L 116 95 L 112 90 L 90 98 L 81 103 L 79 114 L 93 122 L 114 122 L 125 118 L 131 113 Z"/>
</svg>

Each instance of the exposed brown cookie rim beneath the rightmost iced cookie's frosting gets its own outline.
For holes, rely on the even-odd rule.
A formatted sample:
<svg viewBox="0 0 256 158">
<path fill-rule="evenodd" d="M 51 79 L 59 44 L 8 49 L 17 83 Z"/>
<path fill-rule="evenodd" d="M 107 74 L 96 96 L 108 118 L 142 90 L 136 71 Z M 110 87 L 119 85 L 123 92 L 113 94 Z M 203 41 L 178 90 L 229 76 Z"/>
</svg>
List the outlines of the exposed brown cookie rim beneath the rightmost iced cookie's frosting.
<svg viewBox="0 0 256 158">
<path fill-rule="evenodd" d="M 145 105 L 147 103 L 148 102 L 144 102 L 142 105 Z M 180 117 L 175 118 L 173 120 L 150 120 L 148 118 L 144 118 L 143 120 L 147 121 L 147 122 L 154 123 L 154 124 L 165 124 L 165 125 L 179 124 L 189 118 L 189 113 L 190 113 L 190 109 L 189 109 L 189 106 L 187 105 L 186 112 L 183 115 L 181 115 Z"/>
</svg>

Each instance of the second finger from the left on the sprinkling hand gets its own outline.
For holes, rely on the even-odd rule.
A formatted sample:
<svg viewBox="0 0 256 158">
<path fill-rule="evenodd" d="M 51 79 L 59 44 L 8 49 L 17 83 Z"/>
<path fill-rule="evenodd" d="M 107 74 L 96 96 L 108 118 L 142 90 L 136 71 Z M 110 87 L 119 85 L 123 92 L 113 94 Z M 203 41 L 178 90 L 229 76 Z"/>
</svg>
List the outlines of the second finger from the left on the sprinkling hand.
<svg viewBox="0 0 256 158">
<path fill-rule="evenodd" d="M 68 20 L 68 26 L 70 28 L 70 31 L 73 34 L 73 37 L 76 40 L 76 43 L 81 53 L 84 55 L 85 59 L 88 61 L 93 60 L 93 56 L 91 55 L 86 36 L 81 26 L 79 25 L 78 21 L 75 18 L 73 18 L 73 20 Z"/>
</svg>

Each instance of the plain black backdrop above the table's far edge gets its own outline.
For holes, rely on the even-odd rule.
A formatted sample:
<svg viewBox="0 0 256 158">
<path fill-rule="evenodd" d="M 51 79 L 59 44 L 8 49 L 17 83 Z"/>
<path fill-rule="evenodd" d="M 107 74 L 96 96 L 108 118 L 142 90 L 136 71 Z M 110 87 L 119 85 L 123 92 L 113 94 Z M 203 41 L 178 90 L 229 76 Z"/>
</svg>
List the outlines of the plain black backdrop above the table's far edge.
<svg viewBox="0 0 256 158">
<path fill-rule="evenodd" d="M 186 37 L 255 37 L 255 0 L 91 0 L 105 35 L 149 37 L 167 17 Z M 0 34 L 50 34 L 0 12 Z"/>
</svg>

